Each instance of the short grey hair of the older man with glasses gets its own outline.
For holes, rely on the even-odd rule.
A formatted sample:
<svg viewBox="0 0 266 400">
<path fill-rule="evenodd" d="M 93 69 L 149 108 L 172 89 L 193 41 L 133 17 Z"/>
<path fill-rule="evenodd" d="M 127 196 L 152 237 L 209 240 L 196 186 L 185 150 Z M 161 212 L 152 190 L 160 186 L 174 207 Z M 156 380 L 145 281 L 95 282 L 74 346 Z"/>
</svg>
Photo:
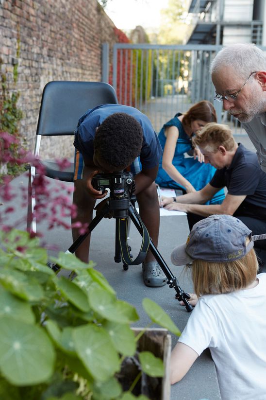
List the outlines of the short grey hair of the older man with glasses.
<svg viewBox="0 0 266 400">
<path fill-rule="evenodd" d="M 237 43 L 220 50 L 210 66 L 211 74 L 221 67 L 230 66 L 238 75 L 246 79 L 251 72 L 266 71 L 266 56 L 253 43 Z"/>
</svg>

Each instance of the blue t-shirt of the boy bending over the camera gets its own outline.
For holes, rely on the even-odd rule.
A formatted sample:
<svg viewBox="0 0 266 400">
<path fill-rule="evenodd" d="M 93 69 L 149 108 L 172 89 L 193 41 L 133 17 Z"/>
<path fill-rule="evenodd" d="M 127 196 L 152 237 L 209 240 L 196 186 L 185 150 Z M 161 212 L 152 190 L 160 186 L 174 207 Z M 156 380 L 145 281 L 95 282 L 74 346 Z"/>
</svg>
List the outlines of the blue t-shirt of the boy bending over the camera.
<svg viewBox="0 0 266 400">
<path fill-rule="evenodd" d="M 163 150 L 149 118 L 134 107 L 121 104 L 102 104 L 88 110 L 79 120 L 75 131 L 74 146 L 86 158 L 93 159 L 96 128 L 109 115 L 123 112 L 133 116 L 141 125 L 143 130 L 143 142 L 140 152 L 142 168 L 150 169 L 159 164 Z M 134 133 L 132 133 L 134 134 Z"/>
</svg>

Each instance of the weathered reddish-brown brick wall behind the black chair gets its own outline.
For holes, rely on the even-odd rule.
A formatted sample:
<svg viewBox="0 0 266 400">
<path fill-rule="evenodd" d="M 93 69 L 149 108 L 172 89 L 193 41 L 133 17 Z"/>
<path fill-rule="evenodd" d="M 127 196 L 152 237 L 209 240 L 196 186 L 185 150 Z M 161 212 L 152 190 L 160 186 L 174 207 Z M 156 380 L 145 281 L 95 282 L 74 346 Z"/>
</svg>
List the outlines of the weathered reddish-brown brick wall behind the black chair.
<svg viewBox="0 0 266 400">
<path fill-rule="evenodd" d="M 30 150 L 45 84 L 53 80 L 100 81 L 101 45 L 115 42 L 114 27 L 97 0 L 0 0 L 2 71 L 12 91 L 13 65 L 18 62 L 16 89 L 23 110 L 20 133 Z M 44 139 L 43 157 L 73 153 L 73 138 L 52 144 Z"/>
</svg>

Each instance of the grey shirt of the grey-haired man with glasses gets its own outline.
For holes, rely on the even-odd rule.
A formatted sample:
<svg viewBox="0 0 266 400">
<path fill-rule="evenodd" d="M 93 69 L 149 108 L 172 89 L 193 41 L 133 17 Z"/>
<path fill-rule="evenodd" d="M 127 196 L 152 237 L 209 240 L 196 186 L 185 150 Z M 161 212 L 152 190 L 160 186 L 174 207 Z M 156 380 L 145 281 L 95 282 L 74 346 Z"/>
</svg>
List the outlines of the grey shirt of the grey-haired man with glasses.
<svg viewBox="0 0 266 400">
<path fill-rule="evenodd" d="M 266 113 L 258 115 L 250 122 L 243 122 L 242 125 L 257 150 L 261 169 L 266 172 Z"/>
</svg>

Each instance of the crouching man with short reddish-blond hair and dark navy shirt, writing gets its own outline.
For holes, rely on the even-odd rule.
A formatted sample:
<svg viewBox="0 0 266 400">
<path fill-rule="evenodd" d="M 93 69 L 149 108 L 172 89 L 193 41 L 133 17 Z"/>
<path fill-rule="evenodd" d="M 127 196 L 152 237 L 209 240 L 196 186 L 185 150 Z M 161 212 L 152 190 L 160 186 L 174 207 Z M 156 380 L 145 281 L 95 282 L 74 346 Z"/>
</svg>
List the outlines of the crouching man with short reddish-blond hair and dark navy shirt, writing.
<svg viewBox="0 0 266 400">
<path fill-rule="evenodd" d="M 204 162 L 217 171 L 200 191 L 163 198 L 162 206 L 187 212 L 190 230 L 209 215 L 229 214 L 239 218 L 253 235 L 266 233 L 266 174 L 255 153 L 237 144 L 229 127 L 221 124 L 207 124 L 193 142 L 204 155 Z M 228 193 L 222 204 L 204 204 L 224 187 Z M 258 241 L 256 246 L 257 255 L 266 265 L 266 241 Z"/>
</svg>

